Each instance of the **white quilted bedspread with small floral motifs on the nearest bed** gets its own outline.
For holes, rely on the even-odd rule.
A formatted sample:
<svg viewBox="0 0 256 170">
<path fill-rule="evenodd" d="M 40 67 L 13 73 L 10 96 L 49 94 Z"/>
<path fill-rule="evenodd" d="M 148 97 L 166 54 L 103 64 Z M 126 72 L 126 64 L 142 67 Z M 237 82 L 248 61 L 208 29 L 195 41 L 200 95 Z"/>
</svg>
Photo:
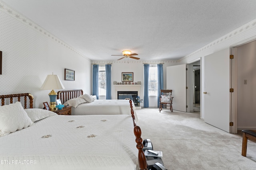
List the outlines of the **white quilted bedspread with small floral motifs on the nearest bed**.
<svg viewBox="0 0 256 170">
<path fill-rule="evenodd" d="M 0 137 L 3 170 L 137 170 L 137 164 L 130 115 L 53 115 Z"/>
</svg>

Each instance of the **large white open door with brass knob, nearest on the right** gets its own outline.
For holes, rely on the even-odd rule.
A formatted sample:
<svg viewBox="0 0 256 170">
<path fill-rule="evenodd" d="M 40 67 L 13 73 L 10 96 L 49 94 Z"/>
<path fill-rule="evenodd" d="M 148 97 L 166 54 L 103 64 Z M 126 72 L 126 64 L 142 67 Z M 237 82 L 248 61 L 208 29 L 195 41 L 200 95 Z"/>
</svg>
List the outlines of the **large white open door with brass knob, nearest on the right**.
<svg viewBox="0 0 256 170">
<path fill-rule="evenodd" d="M 230 133 L 230 49 L 204 58 L 204 121 Z"/>
</svg>

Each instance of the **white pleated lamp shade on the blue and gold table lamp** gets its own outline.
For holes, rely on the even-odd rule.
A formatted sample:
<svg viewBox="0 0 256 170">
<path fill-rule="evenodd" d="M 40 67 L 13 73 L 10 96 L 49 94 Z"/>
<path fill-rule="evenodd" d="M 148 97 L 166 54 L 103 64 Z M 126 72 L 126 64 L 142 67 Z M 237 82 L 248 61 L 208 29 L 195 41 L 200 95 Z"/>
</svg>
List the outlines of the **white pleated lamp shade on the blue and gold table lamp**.
<svg viewBox="0 0 256 170">
<path fill-rule="evenodd" d="M 58 75 L 47 75 L 40 90 L 64 89 Z"/>
</svg>

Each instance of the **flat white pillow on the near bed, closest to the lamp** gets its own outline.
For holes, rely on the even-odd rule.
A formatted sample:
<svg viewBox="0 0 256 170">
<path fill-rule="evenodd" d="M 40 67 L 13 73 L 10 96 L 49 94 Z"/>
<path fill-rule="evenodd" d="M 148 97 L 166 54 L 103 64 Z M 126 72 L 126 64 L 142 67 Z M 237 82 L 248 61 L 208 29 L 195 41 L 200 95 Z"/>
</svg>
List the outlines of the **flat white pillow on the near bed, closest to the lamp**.
<svg viewBox="0 0 256 170">
<path fill-rule="evenodd" d="M 49 116 L 57 115 L 53 111 L 46 110 L 46 109 L 25 109 L 25 111 L 28 114 L 28 117 L 33 122 L 44 119 Z"/>
</svg>

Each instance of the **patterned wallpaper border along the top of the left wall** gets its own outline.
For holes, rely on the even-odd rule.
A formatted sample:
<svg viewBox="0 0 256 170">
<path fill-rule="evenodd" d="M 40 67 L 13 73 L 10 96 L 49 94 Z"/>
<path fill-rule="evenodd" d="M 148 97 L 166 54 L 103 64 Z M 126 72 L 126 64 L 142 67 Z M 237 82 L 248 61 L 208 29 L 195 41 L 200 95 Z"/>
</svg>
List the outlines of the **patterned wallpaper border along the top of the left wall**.
<svg viewBox="0 0 256 170">
<path fill-rule="evenodd" d="M 84 59 L 86 59 L 86 60 L 91 62 L 91 60 L 88 59 L 86 56 L 84 56 L 82 53 L 80 53 L 79 51 L 77 51 L 76 49 L 74 49 L 73 47 L 71 47 L 70 45 L 68 45 L 64 41 L 62 41 L 61 39 L 58 39 L 55 35 L 53 35 L 49 31 L 46 31 L 45 29 L 40 27 L 38 24 L 36 24 L 34 21 L 32 21 L 29 18 L 23 16 L 22 14 L 16 12 L 15 10 L 13 10 L 9 6 L 7 6 L 2 1 L 0 1 L 0 11 L 8 14 L 9 16 L 11 16 L 12 18 L 15 18 L 16 20 L 20 21 L 24 25 L 27 25 L 28 27 L 34 29 L 35 31 L 37 31 L 37 32 L 39 32 L 41 34 L 43 34 L 44 36 L 48 37 L 49 39 L 52 39 L 52 41 L 55 41 L 56 43 L 59 43 L 60 45 L 66 47 L 70 51 L 76 53 L 77 55 L 80 55 Z"/>
</svg>

